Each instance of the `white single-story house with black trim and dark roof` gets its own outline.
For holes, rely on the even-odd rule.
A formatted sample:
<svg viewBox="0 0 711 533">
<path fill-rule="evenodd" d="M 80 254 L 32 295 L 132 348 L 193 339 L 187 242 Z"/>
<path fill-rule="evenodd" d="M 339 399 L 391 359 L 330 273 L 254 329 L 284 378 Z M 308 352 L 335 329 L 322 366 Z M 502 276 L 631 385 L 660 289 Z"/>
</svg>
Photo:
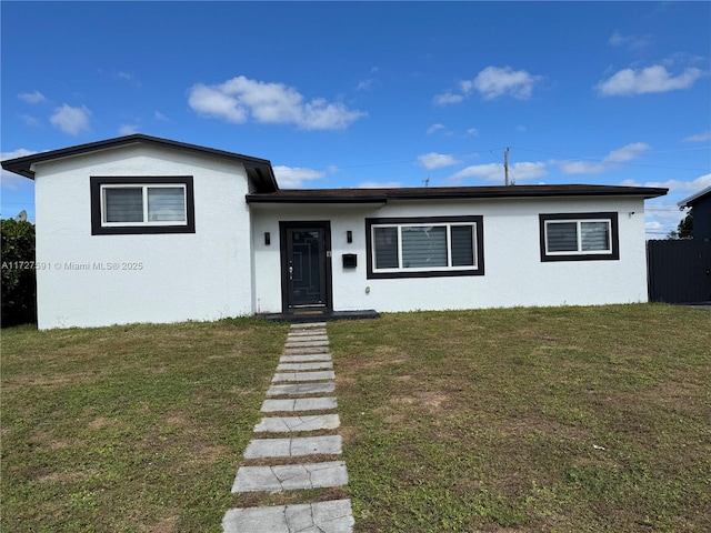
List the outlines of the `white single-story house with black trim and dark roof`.
<svg viewBox="0 0 711 533">
<path fill-rule="evenodd" d="M 281 190 L 268 160 L 143 134 L 2 167 L 34 180 L 40 329 L 643 302 L 667 193 Z"/>
</svg>

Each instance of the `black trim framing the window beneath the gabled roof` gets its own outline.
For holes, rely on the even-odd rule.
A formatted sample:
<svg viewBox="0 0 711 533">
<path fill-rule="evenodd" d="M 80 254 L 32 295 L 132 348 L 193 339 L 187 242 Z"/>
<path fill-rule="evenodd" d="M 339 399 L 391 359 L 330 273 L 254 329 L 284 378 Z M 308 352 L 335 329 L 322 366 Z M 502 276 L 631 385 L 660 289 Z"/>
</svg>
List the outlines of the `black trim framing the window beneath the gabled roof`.
<svg viewBox="0 0 711 533">
<path fill-rule="evenodd" d="M 151 233 L 194 233 L 196 205 L 192 175 L 92 175 L 89 179 L 91 191 L 91 234 L 129 235 Z M 103 225 L 101 222 L 101 185 L 184 185 L 187 223 L 161 225 Z"/>
</svg>

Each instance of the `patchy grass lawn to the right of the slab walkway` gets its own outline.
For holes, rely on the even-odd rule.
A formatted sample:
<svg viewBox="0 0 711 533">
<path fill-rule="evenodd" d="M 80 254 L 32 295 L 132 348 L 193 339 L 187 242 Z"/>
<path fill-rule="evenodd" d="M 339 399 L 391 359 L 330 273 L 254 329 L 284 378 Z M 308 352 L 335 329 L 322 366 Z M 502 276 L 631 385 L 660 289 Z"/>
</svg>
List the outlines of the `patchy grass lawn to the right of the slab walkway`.
<svg viewBox="0 0 711 533">
<path fill-rule="evenodd" d="M 329 324 L 357 531 L 711 531 L 711 312 Z"/>
</svg>

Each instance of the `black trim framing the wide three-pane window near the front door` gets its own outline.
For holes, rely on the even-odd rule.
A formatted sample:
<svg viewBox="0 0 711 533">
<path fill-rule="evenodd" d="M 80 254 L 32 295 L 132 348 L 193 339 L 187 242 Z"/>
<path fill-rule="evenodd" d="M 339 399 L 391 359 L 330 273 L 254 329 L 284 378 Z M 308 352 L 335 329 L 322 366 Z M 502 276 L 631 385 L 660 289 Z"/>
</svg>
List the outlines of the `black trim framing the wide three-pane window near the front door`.
<svg viewBox="0 0 711 533">
<path fill-rule="evenodd" d="M 477 266 L 467 270 L 430 270 L 417 272 L 373 272 L 373 249 L 372 249 L 372 227 L 380 224 L 408 225 L 408 224 L 474 224 L 474 239 L 477 242 Z M 464 217 L 407 217 L 407 218 L 378 218 L 365 219 L 365 264 L 367 278 L 374 279 L 395 279 L 395 278 L 443 278 L 443 276 L 461 276 L 461 275 L 484 275 L 484 232 L 483 217 L 464 215 Z"/>
</svg>

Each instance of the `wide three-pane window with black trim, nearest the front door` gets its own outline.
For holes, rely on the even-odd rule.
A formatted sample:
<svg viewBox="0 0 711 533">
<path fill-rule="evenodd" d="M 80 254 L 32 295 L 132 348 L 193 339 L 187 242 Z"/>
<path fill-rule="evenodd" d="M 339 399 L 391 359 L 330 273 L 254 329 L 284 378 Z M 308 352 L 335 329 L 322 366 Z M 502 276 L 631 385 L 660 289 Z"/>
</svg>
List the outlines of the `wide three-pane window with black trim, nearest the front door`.
<svg viewBox="0 0 711 533">
<path fill-rule="evenodd" d="M 368 278 L 483 274 L 482 217 L 367 219 Z"/>
</svg>

